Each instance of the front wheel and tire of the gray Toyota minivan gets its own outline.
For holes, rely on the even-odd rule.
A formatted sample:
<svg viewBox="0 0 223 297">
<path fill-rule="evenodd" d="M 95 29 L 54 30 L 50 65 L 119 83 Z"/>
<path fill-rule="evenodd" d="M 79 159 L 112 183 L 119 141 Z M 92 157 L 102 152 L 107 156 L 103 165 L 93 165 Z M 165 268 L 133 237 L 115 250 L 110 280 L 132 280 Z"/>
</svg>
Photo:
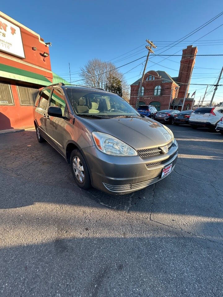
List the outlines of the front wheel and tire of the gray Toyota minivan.
<svg viewBox="0 0 223 297">
<path fill-rule="evenodd" d="M 90 174 L 84 157 L 78 149 L 74 149 L 70 157 L 71 171 L 75 183 L 83 190 L 91 187 Z"/>
</svg>

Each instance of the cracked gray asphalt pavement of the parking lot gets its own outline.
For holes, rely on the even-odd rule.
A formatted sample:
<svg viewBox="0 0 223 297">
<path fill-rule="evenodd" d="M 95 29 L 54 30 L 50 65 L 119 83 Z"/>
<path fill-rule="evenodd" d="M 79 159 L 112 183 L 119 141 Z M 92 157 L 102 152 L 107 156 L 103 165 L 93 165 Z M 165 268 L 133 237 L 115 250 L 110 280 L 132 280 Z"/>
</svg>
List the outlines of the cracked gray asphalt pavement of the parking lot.
<svg viewBox="0 0 223 297">
<path fill-rule="evenodd" d="M 223 136 L 168 126 L 174 171 L 83 191 L 35 131 L 0 135 L 0 296 L 222 296 Z"/>
</svg>

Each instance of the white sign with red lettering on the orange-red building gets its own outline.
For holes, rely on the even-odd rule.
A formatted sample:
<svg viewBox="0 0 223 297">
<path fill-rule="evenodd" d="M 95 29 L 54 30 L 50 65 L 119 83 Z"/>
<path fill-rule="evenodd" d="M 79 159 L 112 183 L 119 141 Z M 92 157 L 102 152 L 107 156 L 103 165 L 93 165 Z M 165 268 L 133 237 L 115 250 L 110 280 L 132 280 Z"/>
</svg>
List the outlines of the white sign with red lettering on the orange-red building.
<svg viewBox="0 0 223 297">
<path fill-rule="evenodd" d="M 20 28 L 0 16 L 0 51 L 25 58 Z"/>
</svg>

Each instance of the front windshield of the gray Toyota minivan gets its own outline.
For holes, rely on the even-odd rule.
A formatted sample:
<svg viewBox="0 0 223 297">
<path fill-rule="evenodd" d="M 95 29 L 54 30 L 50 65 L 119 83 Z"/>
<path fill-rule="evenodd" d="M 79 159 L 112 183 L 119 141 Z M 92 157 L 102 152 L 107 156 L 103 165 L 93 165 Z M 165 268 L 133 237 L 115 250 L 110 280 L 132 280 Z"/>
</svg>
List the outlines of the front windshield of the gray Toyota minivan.
<svg viewBox="0 0 223 297">
<path fill-rule="evenodd" d="M 76 88 L 67 88 L 66 93 L 78 115 L 94 116 L 94 118 L 140 117 L 129 103 L 116 94 Z"/>
</svg>

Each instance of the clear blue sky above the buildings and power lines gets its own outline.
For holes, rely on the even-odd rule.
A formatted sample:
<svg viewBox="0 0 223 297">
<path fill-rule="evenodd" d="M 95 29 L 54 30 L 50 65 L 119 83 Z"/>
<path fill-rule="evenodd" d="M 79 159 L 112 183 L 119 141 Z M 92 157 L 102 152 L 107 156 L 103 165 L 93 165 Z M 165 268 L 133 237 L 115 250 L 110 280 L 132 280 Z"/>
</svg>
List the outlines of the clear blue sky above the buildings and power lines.
<svg viewBox="0 0 223 297">
<path fill-rule="evenodd" d="M 78 72 L 88 59 L 112 59 L 117 67 L 121 66 L 147 54 L 146 39 L 157 44 L 158 54 L 171 41 L 178 40 L 223 11 L 221 0 L 215 0 L 214 5 L 212 1 L 200 0 L 85 0 L 66 1 L 64 4 L 62 1 L 50 0 L 23 0 L 21 4 L 12 0 L 2 2 L 1 11 L 39 33 L 46 42 L 52 42 L 49 49 L 52 70 L 67 79 L 70 62 L 72 81 L 80 79 Z M 190 44 L 198 46 L 198 54 L 223 54 L 223 26 L 199 42 L 193 42 L 221 24 L 223 15 L 164 54 L 175 54 L 177 51 L 177 54 L 181 54 L 182 49 Z M 163 70 L 171 76 L 177 76 L 181 57 L 170 57 L 168 59 L 172 61 L 165 59 L 160 62 L 164 58 L 151 57 L 147 70 Z M 144 61 L 145 58 L 142 58 L 120 68 L 123 73 L 128 71 L 125 78 L 129 84 L 140 77 Z M 197 57 L 191 83 L 213 84 L 222 66 L 223 56 Z M 221 82 L 223 84 L 223 79 Z M 78 83 L 81 84 L 80 81 Z M 190 93 L 197 90 L 197 101 L 203 96 L 205 88 L 191 85 Z M 211 90 L 211 87 L 208 88 L 208 91 Z M 210 100 L 211 96 L 212 92 L 206 100 Z M 223 86 L 218 87 L 214 101 L 223 101 Z"/>
</svg>

